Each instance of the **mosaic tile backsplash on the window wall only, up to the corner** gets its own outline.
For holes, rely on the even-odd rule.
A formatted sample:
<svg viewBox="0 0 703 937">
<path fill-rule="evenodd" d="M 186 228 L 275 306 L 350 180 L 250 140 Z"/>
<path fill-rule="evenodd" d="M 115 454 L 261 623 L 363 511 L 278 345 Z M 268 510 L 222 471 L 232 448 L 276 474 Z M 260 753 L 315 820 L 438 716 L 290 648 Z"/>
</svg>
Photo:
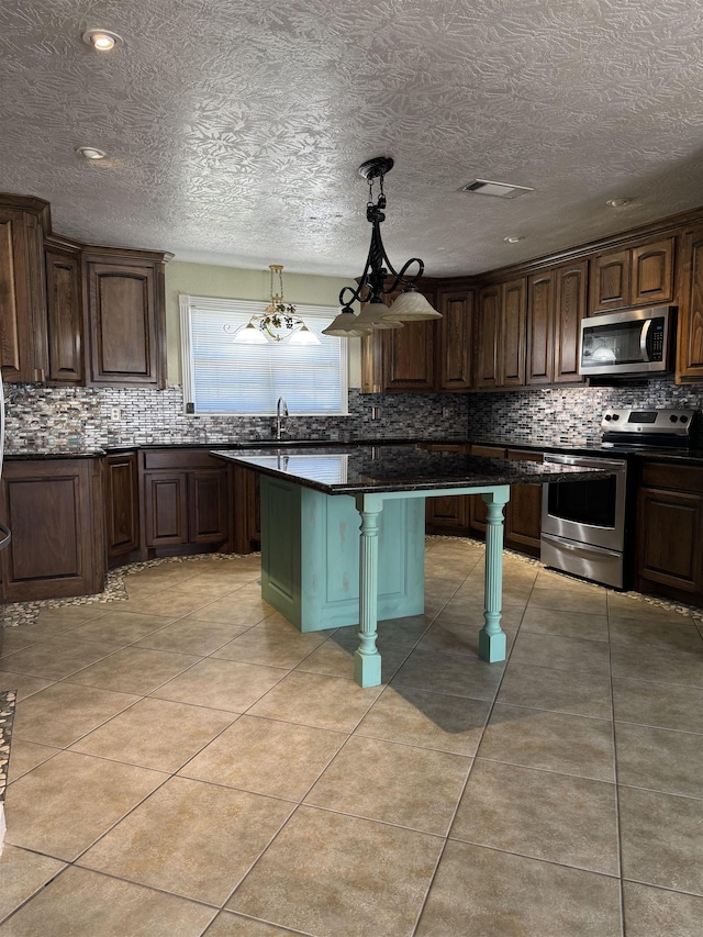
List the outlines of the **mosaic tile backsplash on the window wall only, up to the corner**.
<svg viewBox="0 0 703 937">
<path fill-rule="evenodd" d="M 180 387 L 45 388 L 5 386 L 5 451 L 54 453 L 138 445 L 222 445 L 271 439 L 271 416 L 191 416 Z M 376 416 L 376 419 L 373 419 Z M 346 442 L 360 438 L 464 438 L 466 397 L 362 394 L 349 390 L 348 416 L 291 416 L 283 437 Z"/>
</svg>

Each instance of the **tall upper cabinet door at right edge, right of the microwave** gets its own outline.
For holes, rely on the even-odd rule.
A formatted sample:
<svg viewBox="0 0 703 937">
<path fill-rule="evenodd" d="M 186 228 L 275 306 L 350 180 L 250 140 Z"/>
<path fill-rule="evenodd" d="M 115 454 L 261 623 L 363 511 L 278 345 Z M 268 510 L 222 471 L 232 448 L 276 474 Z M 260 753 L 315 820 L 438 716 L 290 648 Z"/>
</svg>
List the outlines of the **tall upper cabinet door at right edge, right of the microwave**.
<svg viewBox="0 0 703 937">
<path fill-rule="evenodd" d="M 687 383 L 703 381 L 703 228 L 687 232 L 682 267 L 677 380 Z"/>
</svg>

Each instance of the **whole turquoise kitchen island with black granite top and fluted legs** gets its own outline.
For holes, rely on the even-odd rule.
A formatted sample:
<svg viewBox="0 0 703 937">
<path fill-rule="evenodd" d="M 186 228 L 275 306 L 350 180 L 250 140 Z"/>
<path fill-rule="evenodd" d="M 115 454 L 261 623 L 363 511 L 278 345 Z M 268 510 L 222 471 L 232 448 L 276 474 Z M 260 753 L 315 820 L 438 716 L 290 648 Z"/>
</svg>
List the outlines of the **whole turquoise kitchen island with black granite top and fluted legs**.
<svg viewBox="0 0 703 937">
<path fill-rule="evenodd" d="M 503 509 L 510 487 L 607 476 L 596 469 L 514 462 L 414 444 L 211 455 L 261 473 L 263 598 L 301 631 L 358 624 L 354 678 L 361 687 L 381 682 L 379 598 L 381 617 L 424 610 L 425 498 L 480 494 L 487 504 L 479 656 L 495 662 L 505 659 L 500 622 Z M 389 594 L 383 591 L 386 577 L 393 570 L 397 581 Z M 345 593 L 342 609 L 339 583 Z"/>
</svg>

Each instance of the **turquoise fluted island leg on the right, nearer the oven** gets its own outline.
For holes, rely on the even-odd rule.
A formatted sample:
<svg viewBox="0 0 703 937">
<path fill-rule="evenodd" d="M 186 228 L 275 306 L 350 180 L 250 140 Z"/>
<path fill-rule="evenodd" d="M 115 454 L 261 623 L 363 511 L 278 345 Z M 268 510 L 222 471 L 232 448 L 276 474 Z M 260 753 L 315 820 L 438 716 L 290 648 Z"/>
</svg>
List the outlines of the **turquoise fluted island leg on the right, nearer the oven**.
<svg viewBox="0 0 703 937">
<path fill-rule="evenodd" d="M 481 495 L 487 505 L 484 625 L 479 632 L 479 657 L 493 663 L 505 660 L 505 632 L 501 628 L 503 593 L 503 507 L 510 488 L 495 488 Z"/>
</svg>

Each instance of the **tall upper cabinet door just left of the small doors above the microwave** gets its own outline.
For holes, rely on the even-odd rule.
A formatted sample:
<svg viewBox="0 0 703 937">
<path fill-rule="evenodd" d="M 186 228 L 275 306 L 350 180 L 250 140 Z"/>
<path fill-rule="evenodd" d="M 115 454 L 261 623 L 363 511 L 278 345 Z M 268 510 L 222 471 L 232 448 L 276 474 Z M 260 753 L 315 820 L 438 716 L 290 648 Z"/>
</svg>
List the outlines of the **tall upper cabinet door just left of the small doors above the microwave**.
<svg viewBox="0 0 703 937">
<path fill-rule="evenodd" d="M 581 320 L 585 315 L 588 260 L 555 270 L 554 382 L 583 383 L 579 373 Z"/>
</svg>

